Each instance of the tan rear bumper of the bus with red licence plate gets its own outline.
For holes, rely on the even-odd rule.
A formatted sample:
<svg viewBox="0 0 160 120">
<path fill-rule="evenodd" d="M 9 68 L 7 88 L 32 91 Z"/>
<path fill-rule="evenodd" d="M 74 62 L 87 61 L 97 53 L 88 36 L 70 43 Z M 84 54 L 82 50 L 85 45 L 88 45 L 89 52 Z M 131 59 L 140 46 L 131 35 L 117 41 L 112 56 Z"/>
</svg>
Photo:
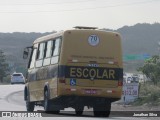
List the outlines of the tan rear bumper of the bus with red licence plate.
<svg viewBox="0 0 160 120">
<path fill-rule="evenodd" d="M 101 97 L 116 101 L 116 99 L 120 99 L 122 96 L 122 86 L 115 88 L 63 86 L 63 88 L 60 87 L 58 89 L 58 96 Z"/>
</svg>

